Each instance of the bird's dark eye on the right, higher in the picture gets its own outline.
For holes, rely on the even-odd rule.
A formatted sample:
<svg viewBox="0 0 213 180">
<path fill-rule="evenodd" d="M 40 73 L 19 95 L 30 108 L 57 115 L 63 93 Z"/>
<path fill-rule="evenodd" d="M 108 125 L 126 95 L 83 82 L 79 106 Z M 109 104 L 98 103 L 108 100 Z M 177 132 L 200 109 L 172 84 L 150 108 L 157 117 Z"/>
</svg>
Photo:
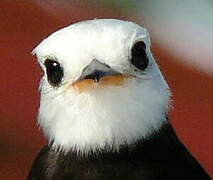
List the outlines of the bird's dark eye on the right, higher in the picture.
<svg viewBox="0 0 213 180">
<path fill-rule="evenodd" d="M 135 43 L 131 50 L 131 63 L 138 69 L 144 70 L 149 64 L 146 54 L 146 44 L 143 41 Z"/>
</svg>

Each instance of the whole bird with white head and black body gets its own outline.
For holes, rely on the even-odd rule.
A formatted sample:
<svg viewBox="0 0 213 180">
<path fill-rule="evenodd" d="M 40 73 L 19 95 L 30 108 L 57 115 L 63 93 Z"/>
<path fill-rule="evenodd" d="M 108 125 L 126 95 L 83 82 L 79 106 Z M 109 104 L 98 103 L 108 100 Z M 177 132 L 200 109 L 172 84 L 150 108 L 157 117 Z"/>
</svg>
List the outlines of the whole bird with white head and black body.
<svg viewBox="0 0 213 180">
<path fill-rule="evenodd" d="M 169 120 L 149 32 L 118 19 L 62 28 L 32 51 L 48 139 L 28 180 L 209 180 Z"/>
</svg>

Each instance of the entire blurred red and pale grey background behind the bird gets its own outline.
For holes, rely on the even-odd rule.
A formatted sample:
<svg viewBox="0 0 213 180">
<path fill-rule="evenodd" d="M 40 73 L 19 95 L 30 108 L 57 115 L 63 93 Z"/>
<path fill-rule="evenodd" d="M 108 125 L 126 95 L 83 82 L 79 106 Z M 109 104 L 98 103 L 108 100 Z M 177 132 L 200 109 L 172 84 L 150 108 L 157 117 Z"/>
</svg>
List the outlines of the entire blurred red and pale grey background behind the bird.
<svg viewBox="0 0 213 180">
<path fill-rule="evenodd" d="M 0 179 L 26 179 L 46 143 L 37 126 L 42 75 L 31 50 L 47 35 L 93 18 L 146 27 L 173 92 L 170 119 L 213 177 L 213 1 L 1 0 Z"/>
</svg>

